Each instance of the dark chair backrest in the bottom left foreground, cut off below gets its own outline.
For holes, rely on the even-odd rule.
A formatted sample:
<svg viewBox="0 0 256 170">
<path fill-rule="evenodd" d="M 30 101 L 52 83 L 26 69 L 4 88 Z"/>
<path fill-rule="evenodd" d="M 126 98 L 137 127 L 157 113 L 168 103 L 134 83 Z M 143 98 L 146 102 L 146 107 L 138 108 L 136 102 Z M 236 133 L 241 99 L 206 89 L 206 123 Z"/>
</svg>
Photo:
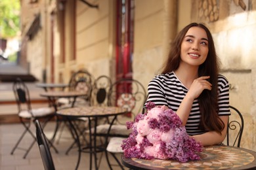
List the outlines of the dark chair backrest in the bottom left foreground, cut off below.
<svg viewBox="0 0 256 170">
<path fill-rule="evenodd" d="M 37 144 L 38 144 L 41 158 L 43 161 L 43 166 L 45 167 L 46 170 L 48 169 L 54 170 L 55 167 L 53 163 L 53 157 L 51 155 L 49 145 L 45 138 L 45 133 L 43 133 L 43 129 L 38 120 L 35 120 L 35 127 L 36 127 Z"/>
</svg>

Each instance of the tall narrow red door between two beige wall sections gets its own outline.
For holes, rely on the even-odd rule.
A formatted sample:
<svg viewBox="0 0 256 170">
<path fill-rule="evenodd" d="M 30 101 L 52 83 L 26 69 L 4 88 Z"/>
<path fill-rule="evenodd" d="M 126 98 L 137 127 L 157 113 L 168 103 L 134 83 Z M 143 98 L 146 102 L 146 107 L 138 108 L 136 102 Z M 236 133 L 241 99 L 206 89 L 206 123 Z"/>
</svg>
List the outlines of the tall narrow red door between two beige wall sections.
<svg viewBox="0 0 256 170">
<path fill-rule="evenodd" d="M 133 77 L 134 0 L 117 0 L 116 80 Z"/>
</svg>

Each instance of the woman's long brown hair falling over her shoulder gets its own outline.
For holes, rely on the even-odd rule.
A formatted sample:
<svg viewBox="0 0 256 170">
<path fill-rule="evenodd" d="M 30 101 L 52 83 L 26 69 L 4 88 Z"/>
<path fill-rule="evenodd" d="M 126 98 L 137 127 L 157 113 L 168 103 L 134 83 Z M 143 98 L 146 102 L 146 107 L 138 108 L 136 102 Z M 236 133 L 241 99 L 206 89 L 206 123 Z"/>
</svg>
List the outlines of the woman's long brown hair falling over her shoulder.
<svg viewBox="0 0 256 170">
<path fill-rule="evenodd" d="M 221 131 L 224 129 L 224 123 L 218 116 L 218 75 L 220 62 L 215 52 L 211 32 L 205 25 L 191 23 L 179 32 L 171 44 L 169 56 L 165 62 L 165 65 L 163 65 L 163 70 L 161 73 L 170 73 L 171 71 L 175 71 L 179 68 L 179 64 L 181 62 L 181 43 L 190 27 L 201 27 L 207 34 L 209 52 L 204 63 L 199 66 L 198 76 L 210 76 L 209 82 L 213 84 L 211 90 L 203 90 L 198 97 L 201 112 L 200 129 L 204 129 L 205 131 L 217 131 L 218 133 L 221 133 Z"/>
</svg>

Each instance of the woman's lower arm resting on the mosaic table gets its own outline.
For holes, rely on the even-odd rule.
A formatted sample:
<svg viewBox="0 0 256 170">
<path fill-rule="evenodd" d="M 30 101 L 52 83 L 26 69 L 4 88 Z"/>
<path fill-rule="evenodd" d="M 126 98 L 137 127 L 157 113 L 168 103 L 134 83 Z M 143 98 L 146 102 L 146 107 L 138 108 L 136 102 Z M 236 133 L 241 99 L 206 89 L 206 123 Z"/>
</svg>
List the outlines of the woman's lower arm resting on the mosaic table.
<svg viewBox="0 0 256 170">
<path fill-rule="evenodd" d="M 222 143 L 226 137 L 226 129 L 228 127 L 228 116 L 220 116 L 220 118 L 224 123 L 224 129 L 223 131 L 221 131 L 221 134 L 217 133 L 217 131 L 209 131 L 207 133 L 203 133 L 202 135 L 194 135 L 194 139 L 196 139 L 197 142 L 202 143 L 203 146 Z"/>
</svg>

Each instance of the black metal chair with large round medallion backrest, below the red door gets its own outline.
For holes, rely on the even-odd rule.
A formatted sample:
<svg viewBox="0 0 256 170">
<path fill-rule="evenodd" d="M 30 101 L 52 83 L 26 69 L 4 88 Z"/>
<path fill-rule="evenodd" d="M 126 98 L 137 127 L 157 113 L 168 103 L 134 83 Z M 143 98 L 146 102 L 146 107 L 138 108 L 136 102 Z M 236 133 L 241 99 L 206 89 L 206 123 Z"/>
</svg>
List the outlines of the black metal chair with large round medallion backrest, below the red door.
<svg viewBox="0 0 256 170">
<path fill-rule="evenodd" d="M 143 112 L 143 106 L 146 101 L 146 90 L 144 86 L 135 79 L 122 78 L 117 80 L 110 87 L 108 93 L 108 106 L 118 106 L 127 109 L 128 115 L 134 118 L 138 113 Z M 110 137 L 127 137 L 126 122 L 122 121 L 122 116 L 117 116 L 116 123 L 112 126 Z M 105 136 L 108 133 L 109 124 L 103 124 L 97 127 L 97 135 Z"/>
</svg>

